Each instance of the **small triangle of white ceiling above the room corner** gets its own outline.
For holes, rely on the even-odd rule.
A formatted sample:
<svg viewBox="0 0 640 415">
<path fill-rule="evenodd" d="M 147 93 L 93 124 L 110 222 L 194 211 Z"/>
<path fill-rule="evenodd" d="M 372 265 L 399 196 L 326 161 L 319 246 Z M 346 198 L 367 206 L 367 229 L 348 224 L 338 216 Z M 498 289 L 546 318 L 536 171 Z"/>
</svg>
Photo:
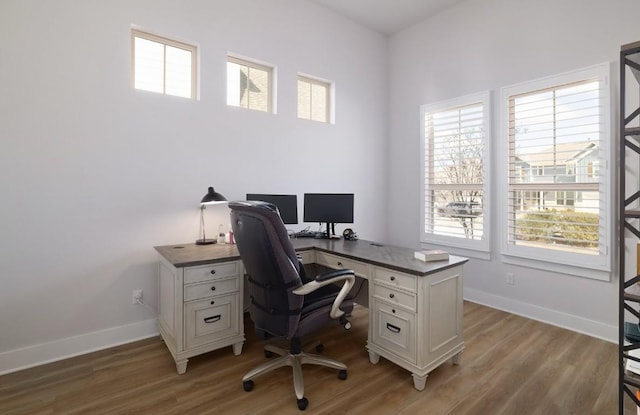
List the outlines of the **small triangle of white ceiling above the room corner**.
<svg viewBox="0 0 640 415">
<path fill-rule="evenodd" d="M 311 0 L 391 35 L 463 0 Z"/>
</svg>

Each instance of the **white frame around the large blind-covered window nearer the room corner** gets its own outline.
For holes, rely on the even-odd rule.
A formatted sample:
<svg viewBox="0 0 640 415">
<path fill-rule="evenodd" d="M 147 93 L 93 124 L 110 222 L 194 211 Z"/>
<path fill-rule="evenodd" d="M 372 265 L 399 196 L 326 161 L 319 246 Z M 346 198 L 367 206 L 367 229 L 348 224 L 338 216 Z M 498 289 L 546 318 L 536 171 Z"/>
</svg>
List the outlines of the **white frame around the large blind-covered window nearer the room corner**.
<svg viewBox="0 0 640 415">
<path fill-rule="evenodd" d="M 483 125 L 483 232 L 481 239 L 466 239 L 447 235 L 438 235 L 426 231 L 426 217 L 428 215 L 426 206 L 426 193 L 429 191 L 426 174 L 426 134 L 425 116 L 429 113 L 445 112 L 454 109 L 461 109 L 471 105 L 482 105 L 482 125 Z M 481 259 L 490 259 L 491 251 L 491 92 L 482 91 L 445 101 L 420 106 L 420 242 L 427 245 L 439 245 L 447 248 L 457 248 L 461 254 Z M 430 213 L 433 215 L 433 212 Z"/>
</svg>

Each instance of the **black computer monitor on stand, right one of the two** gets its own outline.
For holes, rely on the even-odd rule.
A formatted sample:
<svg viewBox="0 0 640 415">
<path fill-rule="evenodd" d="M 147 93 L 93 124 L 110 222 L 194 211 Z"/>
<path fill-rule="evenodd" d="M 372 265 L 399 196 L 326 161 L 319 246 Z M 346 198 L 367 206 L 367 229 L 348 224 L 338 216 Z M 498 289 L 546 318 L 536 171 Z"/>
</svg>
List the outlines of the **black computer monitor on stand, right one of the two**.
<svg viewBox="0 0 640 415">
<path fill-rule="evenodd" d="M 304 221 L 326 223 L 330 238 L 336 223 L 353 223 L 353 193 L 305 193 Z"/>
</svg>

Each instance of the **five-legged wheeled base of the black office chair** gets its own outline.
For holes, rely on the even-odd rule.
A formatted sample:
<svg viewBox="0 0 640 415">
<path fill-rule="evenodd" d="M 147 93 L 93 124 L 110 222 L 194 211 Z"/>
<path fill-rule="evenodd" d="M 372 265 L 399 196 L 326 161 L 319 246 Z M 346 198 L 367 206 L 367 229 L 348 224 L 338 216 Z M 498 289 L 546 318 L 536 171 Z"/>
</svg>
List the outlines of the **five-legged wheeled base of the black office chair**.
<svg viewBox="0 0 640 415">
<path fill-rule="evenodd" d="M 278 369 L 283 366 L 291 366 L 293 369 L 293 388 L 296 393 L 296 398 L 298 399 L 298 407 L 300 407 L 300 401 L 306 401 L 304 398 L 304 380 L 302 376 L 302 365 L 319 365 L 326 366 L 332 369 L 337 369 L 340 371 L 339 378 L 346 379 L 347 378 L 347 365 L 337 360 L 331 359 L 329 357 L 320 356 L 317 354 L 300 352 L 297 354 L 291 353 L 289 350 L 276 346 L 274 344 L 267 344 L 264 346 L 265 354 L 268 352 L 275 353 L 279 357 L 276 357 L 268 362 L 261 364 L 260 366 L 254 368 L 244 375 L 242 378 L 242 383 L 246 391 L 251 390 L 252 386 L 247 387 L 247 385 L 253 385 L 251 382 L 255 377 L 258 377 L 264 373 L 270 372 L 272 370 Z M 247 383 L 249 382 L 249 383 Z M 304 405 L 306 407 L 306 403 Z M 300 408 L 304 409 L 304 408 Z"/>
</svg>

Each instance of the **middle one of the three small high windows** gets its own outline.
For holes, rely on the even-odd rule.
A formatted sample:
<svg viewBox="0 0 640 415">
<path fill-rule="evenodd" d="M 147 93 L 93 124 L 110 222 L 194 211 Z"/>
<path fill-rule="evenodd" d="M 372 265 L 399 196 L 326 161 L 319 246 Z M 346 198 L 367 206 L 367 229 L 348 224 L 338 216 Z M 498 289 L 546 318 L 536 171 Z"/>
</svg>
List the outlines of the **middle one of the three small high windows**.
<svg viewBox="0 0 640 415">
<path fill-rule="evenodd" d="M 227 57 L 227 105 L 263 112 L 273 111 L 273 67 Z"/>
</svg>

